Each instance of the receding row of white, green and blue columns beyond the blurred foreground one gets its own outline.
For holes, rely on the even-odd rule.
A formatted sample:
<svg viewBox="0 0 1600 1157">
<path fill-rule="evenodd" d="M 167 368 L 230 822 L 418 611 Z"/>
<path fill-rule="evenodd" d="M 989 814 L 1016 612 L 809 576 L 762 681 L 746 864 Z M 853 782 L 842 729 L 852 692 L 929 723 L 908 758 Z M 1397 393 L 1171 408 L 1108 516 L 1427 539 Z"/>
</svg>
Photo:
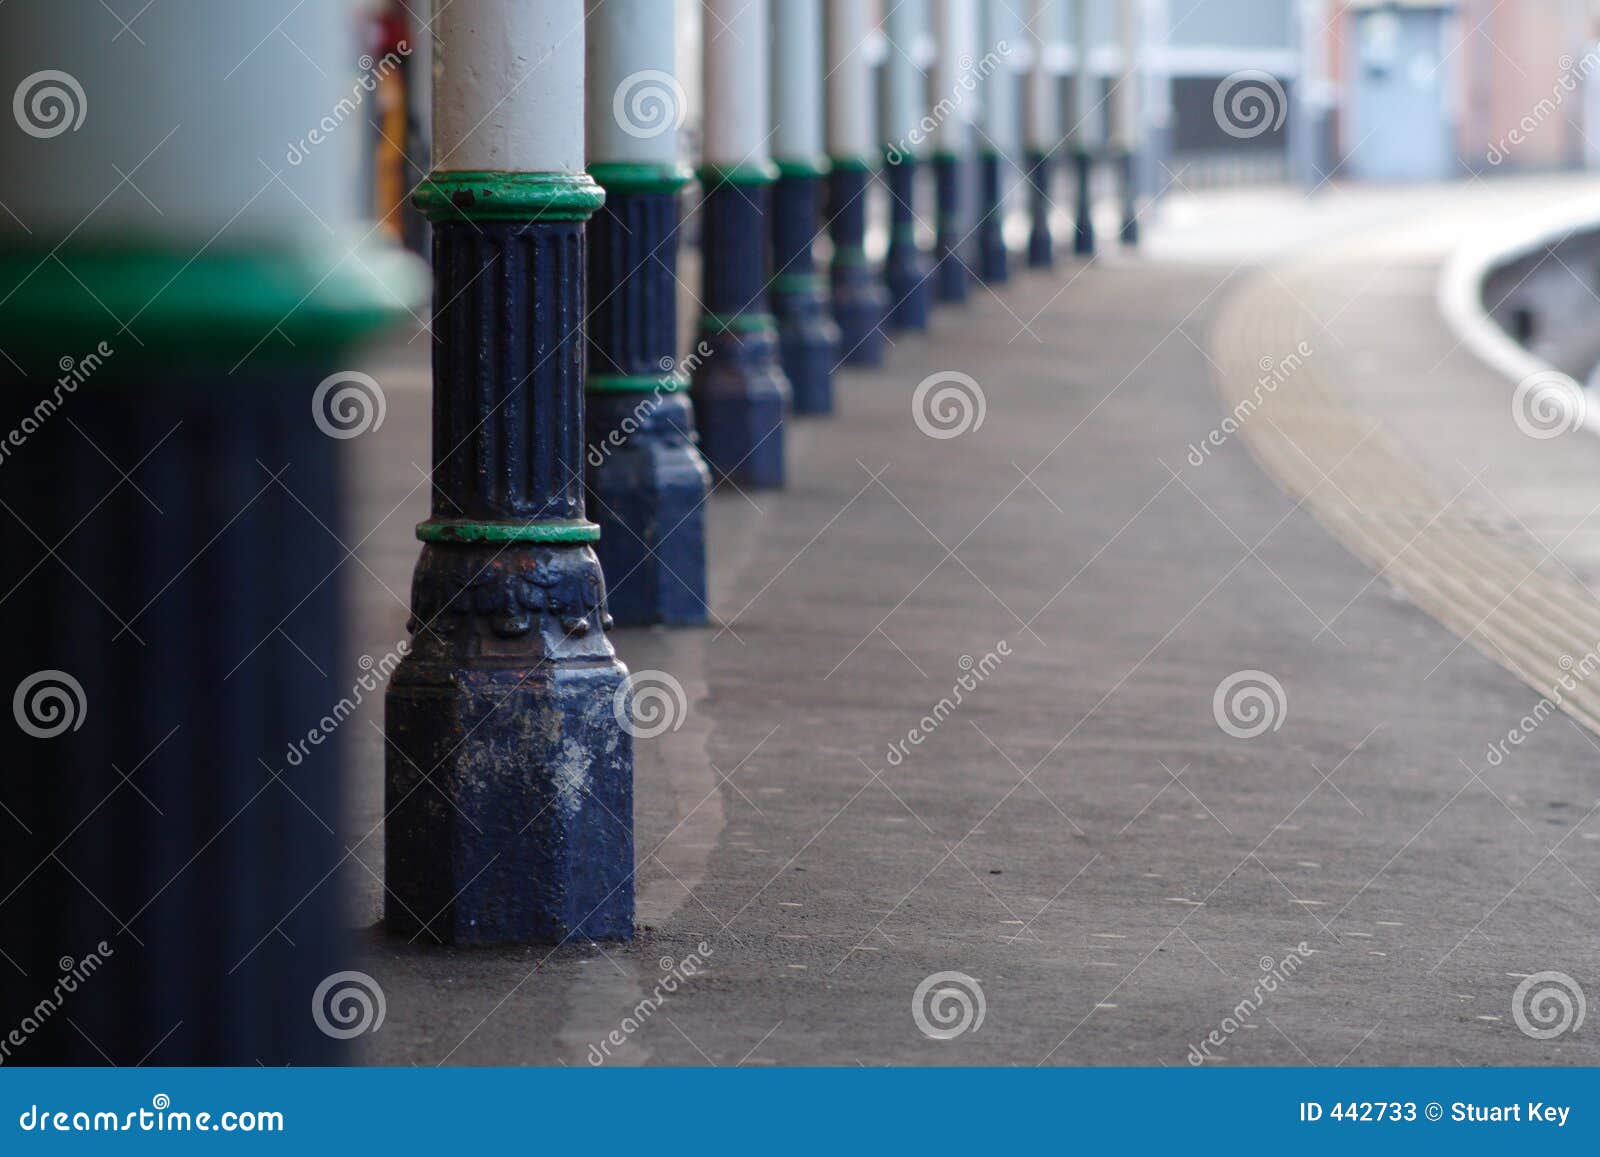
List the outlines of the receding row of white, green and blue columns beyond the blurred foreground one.
<svg viewBox="0 0 1600 1157">
<path fill-rule="evenodd" d="M 683 360 L 675 5 L 437 5 L 435 171 L 418 192 L 434 226 L 435 509 L 387 701 L 394 930 L 458 944 L 632 933 L 632 739 L 606 631 L 707 619 L 709 490 L 782 486 L 787 414 L 829 413 L 840 366 L 880 365 L 890 330 L 926 328 L 934 296 L 962 301 L 968 238 L 976 277 L 1006 280 L 1013 174 L 1034 190 L 1029 262 L 1054 261 L 1064 144 L 1077 246 L 1093 248 L 1102 101 L 1086 53 L 1067 142 L 1058 109 L 1066 13 L 1083 45 L 1091 3 L 1034 0 L 1024 21 L 1002 0 L 898 0 L 875 29 L 861 0 L 706 0 Z M 1114 85 L 1122 152 L 1134 106 L 1117 93 L 1131 90 Z"/>
</svg>

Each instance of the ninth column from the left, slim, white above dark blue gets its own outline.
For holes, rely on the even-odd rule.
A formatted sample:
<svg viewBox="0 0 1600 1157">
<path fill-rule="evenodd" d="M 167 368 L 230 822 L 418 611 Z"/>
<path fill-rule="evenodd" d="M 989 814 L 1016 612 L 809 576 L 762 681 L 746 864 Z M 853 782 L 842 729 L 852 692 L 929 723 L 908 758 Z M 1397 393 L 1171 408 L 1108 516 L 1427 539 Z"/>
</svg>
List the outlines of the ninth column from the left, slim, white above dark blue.
<svg viewBox="0 0 1600 1157">
<path fill-rule="evenodd" d="M 978 146 L 978 275 L 1002 283 L 1011 275 L 1005 240 L 1006 189 L 1018 162 L 1018 75 L 1013 50 L 1022 34 L 1008 0 L 979 0 L 982 110 Z"/>
</svg>

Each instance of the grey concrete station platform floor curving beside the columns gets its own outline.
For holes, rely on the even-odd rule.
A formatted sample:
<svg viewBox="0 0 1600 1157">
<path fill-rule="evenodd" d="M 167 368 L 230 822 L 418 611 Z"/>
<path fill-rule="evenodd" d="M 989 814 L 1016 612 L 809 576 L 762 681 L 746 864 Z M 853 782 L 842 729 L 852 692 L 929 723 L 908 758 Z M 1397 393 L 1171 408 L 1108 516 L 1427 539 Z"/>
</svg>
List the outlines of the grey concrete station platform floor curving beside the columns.
<svg viewBox="0 0 1600 1157">
<path fill-rule="evenodd" d="M 1594 1018 L 1534 1039 L 1514 1015 L 1530 975 L 1600 995 L 1595 736 L 1557 712 L 1491 760 L 1541 691 L 1451 619 L 1448 581 L 1419 597 L 1330 533 L 1338 512 L 1293 466 L 1302 446 L 1362 514 L 1416 514 L 1390 475 L 1320 458 L 1350 422 L 1379 430 L 1405 478 L 1496 506 L 1517 538 L 1501 546 L 1587 595 L 1600 442 L 1520 437 L 1512 384 L 1432 301 L 1456 238 L 1579 195 L 1592 184 L 1174 198 L 1147 256 L 979 290 L 886 370 L 845 373 L 837 416 L 792 422 L 789 490 L 714 496 L 718 624 L 616 634 L 688 703 L 638 744 L 632 944 L 456 952 L 371 930 L 368 704 L 346 731 L 368 928 L 350 967 L 387 1019 L 362 1059 L 1600 1063 Z M 1314 374 L 1274 405 L 1302 424 L 1246 421 L 1194 462 L 1222 398 L 1299 338 Z M 376 659 L 405 637 L 426 512 L 426 338 L 371 370 L 389 416 L 352 443 L 347 578 Z M 982 394 L 960 437 L 914 413 L 939 373 Z M 1589 600 L 1517 621 L 1568 653 Z M 984 677 L 928 727 L 968 669 Z M 688 954 L 704 967 L 658 1005 Z M 981 1023 L 947 1040 L 918 1026 L 939 1008 L 914 1015 L 938 973 L 981 991 Z"/>
</svg>

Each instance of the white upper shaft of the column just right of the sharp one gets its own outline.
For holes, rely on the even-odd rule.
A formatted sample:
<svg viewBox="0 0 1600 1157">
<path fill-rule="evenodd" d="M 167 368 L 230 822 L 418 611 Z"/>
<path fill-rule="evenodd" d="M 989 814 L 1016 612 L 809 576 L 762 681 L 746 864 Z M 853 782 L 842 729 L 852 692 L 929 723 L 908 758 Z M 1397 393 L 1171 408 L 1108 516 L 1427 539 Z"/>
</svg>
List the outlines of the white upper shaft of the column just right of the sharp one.
<svg viewBox="0 0 1600 1157">
<path fill-rule="evenodd" d="M 605 0 L 589 10 L 589 163 L 674 165 L 688 96 L 677 74 L 677 5 Z"/>
</svg>

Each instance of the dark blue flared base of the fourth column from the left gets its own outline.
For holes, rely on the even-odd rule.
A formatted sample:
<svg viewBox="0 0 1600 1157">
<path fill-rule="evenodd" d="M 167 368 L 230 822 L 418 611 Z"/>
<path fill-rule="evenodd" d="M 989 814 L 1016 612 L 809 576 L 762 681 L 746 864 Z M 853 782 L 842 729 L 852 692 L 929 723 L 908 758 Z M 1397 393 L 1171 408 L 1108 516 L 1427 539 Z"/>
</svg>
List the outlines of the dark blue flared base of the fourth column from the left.
<svg viewBox="0 0 1600 1157">
<path fill-rule="evenodd" d="M 750 490 L 784 485 L 784 408 L 789 381 L 779 366 L 771 315 L 744 314 L 738 328 L 701 323 L 707 354 L 694 370 L 694 421 L 712 480 Z"/>
</svg>

